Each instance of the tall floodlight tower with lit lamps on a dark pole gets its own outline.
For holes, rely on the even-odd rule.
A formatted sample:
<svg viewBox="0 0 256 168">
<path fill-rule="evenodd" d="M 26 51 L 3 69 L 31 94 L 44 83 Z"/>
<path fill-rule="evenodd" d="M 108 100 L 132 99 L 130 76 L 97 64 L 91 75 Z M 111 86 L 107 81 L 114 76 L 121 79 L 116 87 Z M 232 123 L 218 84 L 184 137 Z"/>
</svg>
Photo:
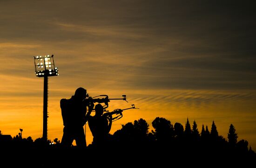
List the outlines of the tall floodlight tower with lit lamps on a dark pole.
<svg viewBox="0 0 256 168">
<path fill-rule="evenodd" d="M 47 141 L 47 105 L 48 105 L 48 77 L 58 76 L 59 70 L 54 65 L 54 55 L 34 57 L 35 75 L 44 77 L 44 101 L 43 101 L 43 140 Z"/>
</svg>

